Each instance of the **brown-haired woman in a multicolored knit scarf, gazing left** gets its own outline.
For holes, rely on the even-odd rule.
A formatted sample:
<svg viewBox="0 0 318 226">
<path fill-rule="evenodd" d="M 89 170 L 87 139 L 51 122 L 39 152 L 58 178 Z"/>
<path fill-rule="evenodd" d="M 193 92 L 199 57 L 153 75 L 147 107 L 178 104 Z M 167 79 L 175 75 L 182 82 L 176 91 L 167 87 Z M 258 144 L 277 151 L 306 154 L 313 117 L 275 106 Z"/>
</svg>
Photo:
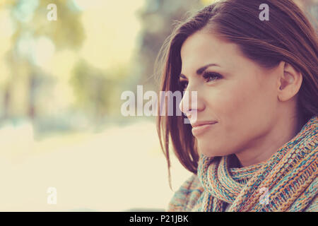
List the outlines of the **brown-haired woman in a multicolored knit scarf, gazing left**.
<svg viewBox="0 0 318 226">
<path fill-rule="evenodd" d="M 170 139 L 193 174 L 167 211 L 318 210 L 317 52 L 292 0 L 217 1 L 176 26 L 156 64 L 185 117 L 159 116 L 158 135 L 169 179 Z"/>
</svg>

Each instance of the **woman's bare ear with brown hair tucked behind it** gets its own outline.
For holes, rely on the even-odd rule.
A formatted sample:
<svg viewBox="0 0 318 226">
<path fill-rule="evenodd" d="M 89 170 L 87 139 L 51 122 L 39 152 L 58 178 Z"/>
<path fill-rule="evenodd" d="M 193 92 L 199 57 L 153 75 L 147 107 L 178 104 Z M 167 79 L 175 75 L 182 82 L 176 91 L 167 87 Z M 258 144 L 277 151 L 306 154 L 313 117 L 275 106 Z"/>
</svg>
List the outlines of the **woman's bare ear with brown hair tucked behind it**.
<svg viewBox="0 0 318 226">
<path fill-rule="evenodd" d="M 297 95 L 302 85 L 302 73 L 292 65 L 281 61 L 278 76 L 278 100 L 286 101 Z"/>
</svg>

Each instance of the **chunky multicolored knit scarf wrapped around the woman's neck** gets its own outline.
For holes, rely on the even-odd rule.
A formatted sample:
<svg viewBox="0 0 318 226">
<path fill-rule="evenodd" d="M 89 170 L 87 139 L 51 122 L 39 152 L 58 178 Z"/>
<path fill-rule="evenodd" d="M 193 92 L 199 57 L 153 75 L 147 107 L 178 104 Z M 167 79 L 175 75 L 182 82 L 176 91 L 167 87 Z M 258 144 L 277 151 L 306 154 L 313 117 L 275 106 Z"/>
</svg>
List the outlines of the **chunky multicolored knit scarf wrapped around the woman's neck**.
<svg viewBox="0 0 318 226">
<path fill-rule="evenodd" d="M 167 211 L 317 211 L 317 125 L 312 117 L 271 158 L 229 168 L 229 156 L 200 155 L 197 176 L 179 188 Z"/>
</svg>

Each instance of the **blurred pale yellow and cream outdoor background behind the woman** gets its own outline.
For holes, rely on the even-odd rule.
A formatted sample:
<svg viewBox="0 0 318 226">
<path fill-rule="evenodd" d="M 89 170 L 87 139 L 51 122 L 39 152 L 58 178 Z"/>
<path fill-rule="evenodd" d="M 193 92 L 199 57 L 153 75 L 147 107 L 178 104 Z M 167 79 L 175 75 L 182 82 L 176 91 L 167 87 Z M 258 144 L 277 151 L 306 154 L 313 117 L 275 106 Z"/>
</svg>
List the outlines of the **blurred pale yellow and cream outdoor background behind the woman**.
<svg viewBox="0 0 318 226">
<path fill-rule="evenodd" d="M 121 95 L 158 90 L 172 24 L 211 3 L 0 0 L 0 211 L 165 210 L 155 117 L 122 116 Z M 297 3 L 317 20 L 317 0 Z M 191 174 L 171 169 L 176 190 Z"/>
</svg>

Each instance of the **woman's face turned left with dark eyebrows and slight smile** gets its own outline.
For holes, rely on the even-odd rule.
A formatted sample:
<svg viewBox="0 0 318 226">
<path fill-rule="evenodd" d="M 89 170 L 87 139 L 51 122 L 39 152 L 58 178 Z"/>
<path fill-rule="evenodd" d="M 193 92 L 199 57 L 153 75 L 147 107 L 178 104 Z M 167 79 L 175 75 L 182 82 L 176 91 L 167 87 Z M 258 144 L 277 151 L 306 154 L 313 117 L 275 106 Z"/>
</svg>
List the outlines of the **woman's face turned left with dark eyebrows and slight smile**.
<svg viewBox="0 0 318 226">
<path fill-rule="evenodd" d="M 277 121 L 276 69 L 261 68 L 243 56 L 236 44 L 207 32 L 188 37 L 181 58 L 184 90 L 197 91 L 196 121 L 218 121 L 194 133 L 199 153 L 230 155 L 266 142 Z M 218 66 L 208 66 L 202 75 L 196 74 L 208 64 Z"/>
</svg>

